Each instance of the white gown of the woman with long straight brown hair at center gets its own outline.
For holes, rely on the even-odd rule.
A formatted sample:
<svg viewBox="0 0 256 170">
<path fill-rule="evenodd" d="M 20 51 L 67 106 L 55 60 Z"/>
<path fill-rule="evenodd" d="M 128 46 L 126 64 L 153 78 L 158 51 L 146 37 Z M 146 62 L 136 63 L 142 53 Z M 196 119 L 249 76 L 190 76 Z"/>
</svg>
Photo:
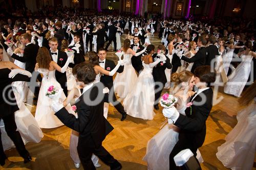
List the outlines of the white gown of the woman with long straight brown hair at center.
<svg viewBox="0 0 256 170">
<path fill-rule="evenodd" d="M 123 72 L 117 73 L 116 78 L 113 82 L 114 91 L 117 93 L 119 98 L 125 98 L 130 93 L 137 83 L 137 74 L 132 66 L 131 54 L 123 54 L 124 68 Z"/>
</svg>

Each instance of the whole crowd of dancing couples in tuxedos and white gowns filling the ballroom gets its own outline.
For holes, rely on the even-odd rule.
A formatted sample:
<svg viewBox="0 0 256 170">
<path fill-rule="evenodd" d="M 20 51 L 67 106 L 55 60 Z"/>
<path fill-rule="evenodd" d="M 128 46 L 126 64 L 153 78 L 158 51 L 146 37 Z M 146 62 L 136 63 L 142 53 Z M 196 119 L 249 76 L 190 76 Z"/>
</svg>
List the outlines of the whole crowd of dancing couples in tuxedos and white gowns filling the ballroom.
<svg viewBox="0 0 256 170">
<path fill-rule="evenodd" d="M 201 21 L 158 21 L 92 15 L 16 21 L 12 25 L 8 19 L 3 24 L 0 46 L 0 164 L 7 159 L 4 151 L 14 145 L 24 162 L 29 162 L 31 156 L 24 143 L 39 142 L 44 136 L 41 128 L 66 125 L 73 129 L 70 155 L 77 168 L 82 164 L 85 169 L 95 169 L 101 159 L 111 169 L 120 169 L 121 164 L 102 147 L 103 139 L 113 129 L 106 120 L 109 103 L 121 114 L 121 121 L 127 115 L 152 120 L 154 109 L 159 110 L 163 88 L 172 89 L 170 93 L 178 99 L 175 107 L 163 109 L 174 124 L 165 125 L 148 141 L 143 160 L 148 169 L 176 169 L 174 156 L 188 148 L 203 162 L 198 148 L 203 145 L 205 122 L 212 108 L 210 85 L 223 84 L 225 93 L 241 96 L 251 74 L 251 61 L 256 58 L 254 35 L 244 37 L 244 33 Z M 153 36 L 162 44 L 155 47 Z M 106 59 L 111 44 L 119 58 L 117 65 Z M 32 83 L 37 84 L 34 90 Z M 46 96 L 50 86 L 63 89 L 58 102 Z M 12 89 L 12 101 L 6 101 L 6 87 Z M 102 95 L 102 101 L 94 106 L 82 100 L 93 100 L 98 95 Z M 35 116 L 24 104 L 33 98 L 37 100 Z M 203 99 L 202 105 L 187 106 Z M 255 103 L 250 107 L 255 108 Z M 255 117 L 253 109 L 244 112 Z M 221 161 L 231 152 L 223 150 L 232 148 L 236 140 L 230 139 L 224 149 L 218 149 Z M 253 140 L 253 135 L 248 140 Z M 243 161 L 229 158 L 230 167 Z"/>
</svg>

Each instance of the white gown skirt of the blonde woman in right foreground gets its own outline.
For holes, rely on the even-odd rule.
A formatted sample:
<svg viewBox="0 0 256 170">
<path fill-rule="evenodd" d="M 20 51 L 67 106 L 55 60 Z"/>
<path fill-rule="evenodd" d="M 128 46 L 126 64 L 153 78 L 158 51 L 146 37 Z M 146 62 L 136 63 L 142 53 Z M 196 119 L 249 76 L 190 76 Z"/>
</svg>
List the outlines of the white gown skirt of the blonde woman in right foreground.
<svg viewBox="0 0 256 170">
<path fill-rule="evenodd" d="M 178 110 L 185 115 L 186 103 Z M 143 160 L 147 162 L 148 170 L 169 170 L 169 155 L 179 140 L 179 128 L 173 125 L 165 125 L 152 139 L 147 142 L 146 155 Z M 203 162 L 203 158 L 197 150 L 197 159 Z"/>
</svg>

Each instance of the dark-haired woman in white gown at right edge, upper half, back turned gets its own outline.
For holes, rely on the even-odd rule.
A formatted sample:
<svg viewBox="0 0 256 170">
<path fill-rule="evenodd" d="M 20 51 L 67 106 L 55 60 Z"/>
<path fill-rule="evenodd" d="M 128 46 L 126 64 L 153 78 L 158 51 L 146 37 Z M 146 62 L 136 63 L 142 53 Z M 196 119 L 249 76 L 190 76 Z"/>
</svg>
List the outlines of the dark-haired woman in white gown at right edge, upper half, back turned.
<svg viewBox="0 0 256 170">
<path fill-rule="evenodd" d="M 239 53 L 242 62 L 237 66 L 236 70 L 228 77 L 230 78 L 227 84 L 224 86 L 224 92 L 240 97 L 246 82 L 249 78 L 251 71 L 251 60 L 256 58 L 256 53 L 252 52 L 252 43 L 247 41 L 245 43 L 246 50 Z"/>
</svg>

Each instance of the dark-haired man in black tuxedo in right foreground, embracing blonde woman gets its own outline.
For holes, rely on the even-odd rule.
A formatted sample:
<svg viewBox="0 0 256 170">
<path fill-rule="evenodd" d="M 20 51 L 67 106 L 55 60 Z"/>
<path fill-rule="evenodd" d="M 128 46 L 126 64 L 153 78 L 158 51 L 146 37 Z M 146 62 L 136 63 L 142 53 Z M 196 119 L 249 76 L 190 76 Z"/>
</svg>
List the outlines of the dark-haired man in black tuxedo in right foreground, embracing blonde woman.
<svg viewBox="0 0 256 170">
<path fill-rule="evenodd" d="M 200 38 L 200 37 L 199 37 Z M 163 114 L 174 121 L 174 125 L 180 128 L 179 140 L 169 155 L 169 169 L 179 169 L 174 162 L 174 156 L 184 149 L 190 149 L 197 156 L 206 135 L 206 120 L 212 108 L 213 91 L 207 87 L 207 83 L 215 81 L 215 74 L 210 72 L 210 66 L 200 66 L 195 70 L 194 81 L 199 88 L 191 96 L 185 114 L 180 114 L 175 107 L 163 109 Z M 193 80 L 191 82 L 193 83 Z"/>
</svg>

